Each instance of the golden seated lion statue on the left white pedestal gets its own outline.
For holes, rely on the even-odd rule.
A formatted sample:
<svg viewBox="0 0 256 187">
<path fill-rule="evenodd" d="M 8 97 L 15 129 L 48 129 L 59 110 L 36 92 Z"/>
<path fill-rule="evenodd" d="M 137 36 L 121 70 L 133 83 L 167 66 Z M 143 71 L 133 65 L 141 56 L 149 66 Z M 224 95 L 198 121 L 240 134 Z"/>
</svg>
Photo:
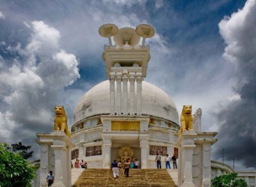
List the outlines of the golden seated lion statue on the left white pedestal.
<svg viewBox="0 0 256 187">
<path fill-rule="evenodd" d="M 64 131 L 65 134 L 70 138 L 70 132 L 68 130 L 68 118 L 66 116 L 64 107 L 55 107 L 55 118 L 54 118 L 54 131 L 60 130 Z"/>
</svg>

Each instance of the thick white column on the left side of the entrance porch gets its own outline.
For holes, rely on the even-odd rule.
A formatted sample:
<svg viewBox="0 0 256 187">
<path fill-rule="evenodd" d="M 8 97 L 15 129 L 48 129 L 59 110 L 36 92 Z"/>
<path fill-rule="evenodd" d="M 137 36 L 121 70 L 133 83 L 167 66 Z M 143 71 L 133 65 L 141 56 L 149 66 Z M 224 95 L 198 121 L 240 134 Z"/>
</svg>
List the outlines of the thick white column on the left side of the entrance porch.
<svg viewBox="0 0 256 187">
<path fill-rule="evenodd" d="M 111 137 L 102 136 L 103 138 L 103 168 L 108 169 L 110 168 L 111 164 L 111 146 L 112 141 Z"/>
</svg>

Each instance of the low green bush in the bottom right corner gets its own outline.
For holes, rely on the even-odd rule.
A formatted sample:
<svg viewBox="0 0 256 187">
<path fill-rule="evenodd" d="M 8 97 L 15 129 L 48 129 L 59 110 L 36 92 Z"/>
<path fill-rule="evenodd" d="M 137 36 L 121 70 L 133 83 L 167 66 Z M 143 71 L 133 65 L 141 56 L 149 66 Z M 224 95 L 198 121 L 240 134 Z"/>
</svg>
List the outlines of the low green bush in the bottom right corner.
<svg viewBox="0 0 256 187">
<path fill-rule="evenodd" d="M 247 187 L 245 180 L 239 179 L 237 173 L 221 175 L 212 180 L 212 187 Z"/>
</svg>

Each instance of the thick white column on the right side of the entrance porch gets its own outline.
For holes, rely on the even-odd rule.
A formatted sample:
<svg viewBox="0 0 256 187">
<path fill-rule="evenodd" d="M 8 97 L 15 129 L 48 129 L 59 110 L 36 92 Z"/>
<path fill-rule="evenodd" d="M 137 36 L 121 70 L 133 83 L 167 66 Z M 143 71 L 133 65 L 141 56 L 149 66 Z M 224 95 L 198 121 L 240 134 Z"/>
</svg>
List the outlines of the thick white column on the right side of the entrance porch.
<svg viewBox="0 0 256 187">
<path fill-rule="evenodd" d="M 139 138 L 139 145 L 141 147 L 141 168 L 147 168 L 147 155 L 148 155 L 148 136 Z"/>
</svg>

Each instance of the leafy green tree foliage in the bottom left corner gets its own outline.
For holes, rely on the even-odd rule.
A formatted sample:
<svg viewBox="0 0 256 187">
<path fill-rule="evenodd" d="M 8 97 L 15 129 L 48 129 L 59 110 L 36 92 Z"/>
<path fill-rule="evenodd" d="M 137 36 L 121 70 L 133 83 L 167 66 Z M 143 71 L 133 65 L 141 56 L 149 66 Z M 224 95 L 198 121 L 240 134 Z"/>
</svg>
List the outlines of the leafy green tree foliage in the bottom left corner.
<svg viewBox="0 0 256 187">
<path fill-rule="evenodd" d="M 0 187 L 30 187 L 34 178 L 34 168 L 27 160 L 0 143 Z"/>
</svg>

